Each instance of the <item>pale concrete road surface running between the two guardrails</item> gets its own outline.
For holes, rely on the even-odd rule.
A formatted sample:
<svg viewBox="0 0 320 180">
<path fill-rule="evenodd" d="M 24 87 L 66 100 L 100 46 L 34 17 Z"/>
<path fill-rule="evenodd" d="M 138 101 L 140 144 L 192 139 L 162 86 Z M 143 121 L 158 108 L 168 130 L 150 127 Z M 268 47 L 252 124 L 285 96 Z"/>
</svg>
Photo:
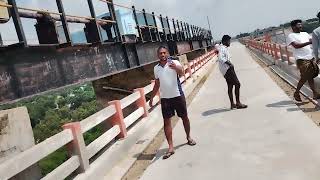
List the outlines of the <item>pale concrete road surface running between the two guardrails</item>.
<svg viewBox="0 0 320 180">
<path fill-rule="evenodd" d="M 229 111 L 227 87 L 218 68 L 189 106 L 192 135 L 183 145 L 174 129 L 176 154 L 162 160 L 164 142 L 143 180 L 319 180 L 320 129 L 250 57 L 232 44 L 246 110 Z"/>
</svg>

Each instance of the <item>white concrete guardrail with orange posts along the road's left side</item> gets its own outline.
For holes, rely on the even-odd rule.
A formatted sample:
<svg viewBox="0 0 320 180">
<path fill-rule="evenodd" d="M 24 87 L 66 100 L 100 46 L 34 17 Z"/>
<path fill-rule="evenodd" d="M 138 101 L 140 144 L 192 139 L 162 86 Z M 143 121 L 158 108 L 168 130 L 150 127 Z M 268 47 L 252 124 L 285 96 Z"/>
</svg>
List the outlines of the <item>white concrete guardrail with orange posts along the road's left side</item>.
<svg viewBox="0 0 320 180">
<path fill-rule="evenodd" d="M 201 69 L 215 55 L 215 50 L 211 50 L 205 55 L 189 62 L 184 66 L 186 73 L 180 77 L 180 81 L 185 83 L 187 79 L 192 77 L 192 74 Z M 127 136 L 127 128 L 130 125 L 141 117 L 148 116 L 150 107 L 146 102 L 146 94 L 152 91 L 153 85 L 154 82 L 146 87 L 135 89 L 134 93 L 121 100 L 109 102 L 108 107 L 80 122 L 65 124 L 62 132 L 1 163 L 0 179 L 9 179 L 19 174 L 65 145 L 68 147 L 69 159 L 42 179 L 64 179 L 76 170 L 78 174 L 84 173 L 90 167 L 89 159 L 91 157 L 96 155 L 115 138 L 125 138 Z M 154 102 L 158 103 L 159 100 L 158 93 Z M 127 117 L 124 117 L 123 109 L 134 103 L 137 109 Z M 86 146 L 83 134 L 95 126 L 104 123 L 108 118 L 111 118 L 113 127 Z"/>
</svg>

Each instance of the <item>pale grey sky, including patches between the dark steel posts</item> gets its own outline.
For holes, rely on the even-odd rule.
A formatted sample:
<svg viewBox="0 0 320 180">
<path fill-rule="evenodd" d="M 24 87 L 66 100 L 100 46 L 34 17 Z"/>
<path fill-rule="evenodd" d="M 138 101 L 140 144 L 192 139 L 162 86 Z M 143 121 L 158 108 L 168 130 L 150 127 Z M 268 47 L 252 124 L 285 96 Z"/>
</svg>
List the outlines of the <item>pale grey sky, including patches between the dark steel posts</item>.
<svg viewBox="0 0 320 180">
<path fill-rule="evenodd" d="M 67 14 L 89 16 L 86 0 L 62 0 Z M 77 2 L 77 3 L 75 3 Z M 99 0 L 93 0 L 97 14 L 107 7 Z M 214 39 L 222 35 L 235 36 L 243 32 L 251 32 L 278 26 L 292 19 L 314 18 L 320 11 L 320 0 L 114 0 L 114 3 L 131 6 L 137 9 L 154 11 L 169 18 L 175 18 L 189 24 L 208 29 L 207 16 L 211 24 Z M 17 0 L 18 6 L 48 9 L 57 12 L 55 0 Z M 28 39 L 36 39 L 35 20 L 23 20 Z M 83 25 L 72 24 L 71 31 L 83 28 Z M 15 41 L 16 34 L 11 29 L 12 22 L 0 24 L 2 38 Z"/>
</svg>

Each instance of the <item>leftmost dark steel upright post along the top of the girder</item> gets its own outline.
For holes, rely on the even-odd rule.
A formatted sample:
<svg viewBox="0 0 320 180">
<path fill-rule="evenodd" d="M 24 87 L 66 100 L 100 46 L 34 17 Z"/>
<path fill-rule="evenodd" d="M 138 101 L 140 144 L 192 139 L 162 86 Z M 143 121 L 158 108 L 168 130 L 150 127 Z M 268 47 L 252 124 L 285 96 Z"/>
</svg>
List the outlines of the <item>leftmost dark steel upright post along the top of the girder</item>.
<svg viewBox="0 0 320 180">
<path fill-rule="evenodd" d="M 23 26 L 22 26 L 22 22 L 21 22 L 21 18 L 19 15 L 19 10 L 17 7 L 17 3 L 16 0 L 8 0 L 8 3 L 10 5 L 12 5 L 12 7 L 10 8 L 10 14 L 12 16 L 13 19 L 13 23 L 14 26 L 16 28 L 16 32 L 17 32 L 17 36 L 19 39 L 19 43 L 23 45 L 23 47 L 27 47 L 27 39 L 26 36 L 24 34 L 24 30 L 23 30 Z"/>
</svg>

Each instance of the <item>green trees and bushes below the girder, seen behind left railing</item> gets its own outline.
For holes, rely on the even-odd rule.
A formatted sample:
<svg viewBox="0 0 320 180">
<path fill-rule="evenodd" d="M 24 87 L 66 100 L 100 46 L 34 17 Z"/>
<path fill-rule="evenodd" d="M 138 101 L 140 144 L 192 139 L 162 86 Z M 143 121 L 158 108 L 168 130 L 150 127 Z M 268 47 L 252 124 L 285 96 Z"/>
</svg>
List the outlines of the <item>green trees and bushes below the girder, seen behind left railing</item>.
<svg viewBox="0 0 320 180">
<path fill-rule="evenodd" d="M 28 109 L 36 143 L 62 131 L 62 125 L 85 119 L 98 110 L 96 96 L 90 84 L 3 105 L 0 110 L 20 106 L 26 106 Z M 85 133 L 86 144 L 95 140 L 102 132 L 102 128 L 97 126 Z M 65 147 L 57 150 L 39 162 L 42 174 L 48 174 L 67 159 Z"/>
</svg>

